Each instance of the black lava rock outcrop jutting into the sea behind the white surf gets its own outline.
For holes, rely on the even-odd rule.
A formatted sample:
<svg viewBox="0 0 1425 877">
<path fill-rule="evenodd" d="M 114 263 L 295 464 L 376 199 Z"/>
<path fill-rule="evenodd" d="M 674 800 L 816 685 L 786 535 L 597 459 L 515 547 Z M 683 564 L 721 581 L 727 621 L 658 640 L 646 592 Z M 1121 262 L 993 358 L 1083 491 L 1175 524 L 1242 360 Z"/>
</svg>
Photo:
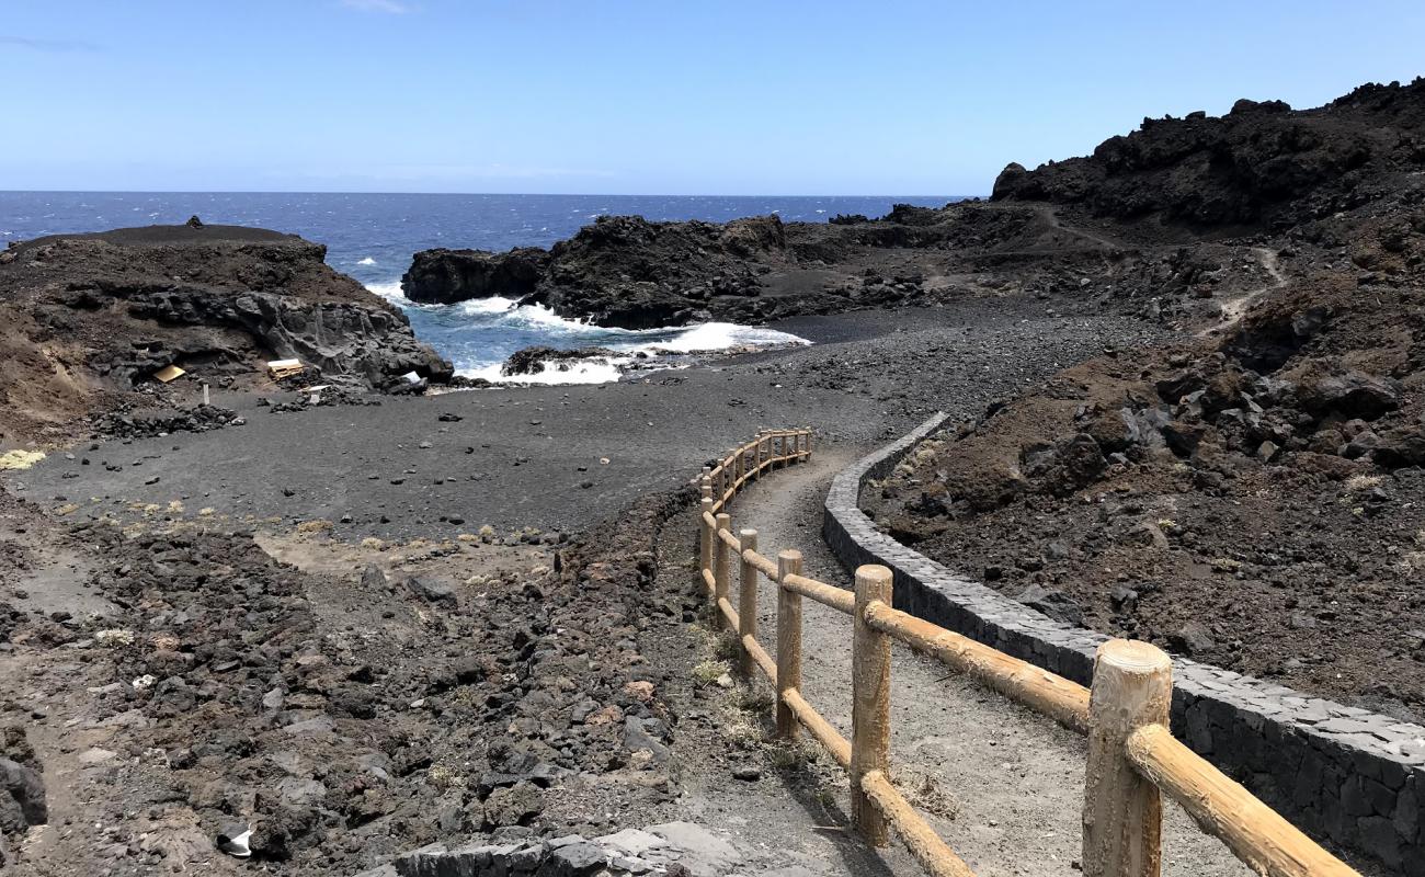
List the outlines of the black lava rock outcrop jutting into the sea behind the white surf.
<svg viewBox="0 0 1425 877">
<path fill-rule="evenodd" d="M 1033 208 L 975 201 L 899 204 L 879 220 L 835 222 L 600 217 L 549 251 L 419 252 L 403 288 L 420 302 L 499 295 L 630 329 L 711 319 L 758 324 L 923 304 L 922 284 L 946 252 L 1025 250 L 1046 228 Z"/>
</svg>

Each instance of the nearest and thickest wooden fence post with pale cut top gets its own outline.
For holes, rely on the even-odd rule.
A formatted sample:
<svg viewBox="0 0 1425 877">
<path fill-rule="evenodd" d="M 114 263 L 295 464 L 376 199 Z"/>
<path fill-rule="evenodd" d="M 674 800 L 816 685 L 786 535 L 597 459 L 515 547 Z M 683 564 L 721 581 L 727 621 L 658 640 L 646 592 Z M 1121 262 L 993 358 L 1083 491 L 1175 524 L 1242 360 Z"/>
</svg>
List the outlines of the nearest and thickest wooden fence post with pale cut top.
<svg viewBox="0 0 1425 877">
<path fill-rule="evenodd" d="M 1173 662 L 1144 642 L 1099 646 L 1089 693 L 1089 764 L 1083 797 L 1086 877 L 1157 877 L 1163 801 L 1134 770 L 1124 743 L 1144 724 L 1167 727 Z"/>
</svg>

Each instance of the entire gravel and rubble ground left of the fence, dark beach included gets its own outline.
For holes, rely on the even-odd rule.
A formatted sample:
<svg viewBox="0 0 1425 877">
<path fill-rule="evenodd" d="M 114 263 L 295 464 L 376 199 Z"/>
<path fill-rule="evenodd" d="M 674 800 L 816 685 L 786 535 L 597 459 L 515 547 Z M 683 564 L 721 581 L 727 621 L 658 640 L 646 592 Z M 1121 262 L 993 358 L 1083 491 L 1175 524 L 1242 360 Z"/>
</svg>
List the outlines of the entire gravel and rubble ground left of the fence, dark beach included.
<svg viewBox="0 0 1425 877">
<path fill-rule="evenodd" d="M 675 649 L 697 598 L 650 588 L 680 485 L 760 426 L 849 456 L 1161 337 L 1050 309 L 805 319 L 829 341 L 607 386 L 281 412 L 222 394 L 245 424 L 7 472 L 48 512 L 7 499 L 0 532 L 0 757 L 48 791 L 10 848 L 235 873 L 215 838 L 251 829 L 264 867 L 349 874 L 480 831 L 685 816 L 670 759 L 721 743 L 680 743 L 661 696 L 697 657 Z"/>
</svg>

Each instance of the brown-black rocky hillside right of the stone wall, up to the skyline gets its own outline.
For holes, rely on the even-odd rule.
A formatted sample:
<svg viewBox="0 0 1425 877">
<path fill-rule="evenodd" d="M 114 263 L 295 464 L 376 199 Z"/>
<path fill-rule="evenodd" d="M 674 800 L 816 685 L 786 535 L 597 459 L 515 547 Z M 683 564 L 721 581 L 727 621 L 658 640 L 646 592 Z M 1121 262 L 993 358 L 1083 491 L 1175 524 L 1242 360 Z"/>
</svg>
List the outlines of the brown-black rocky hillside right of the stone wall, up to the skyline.
<svg viewBox="0 0 1425 877">
<path fill-rule="evenodd" d="M 1421 81 L 1367 86 L 1012 165 L 999 204 L 1270 278 L 926 442 L 868 508 L 1063 620 L 1425 720 L 1422 120 Z"/>
</svg>

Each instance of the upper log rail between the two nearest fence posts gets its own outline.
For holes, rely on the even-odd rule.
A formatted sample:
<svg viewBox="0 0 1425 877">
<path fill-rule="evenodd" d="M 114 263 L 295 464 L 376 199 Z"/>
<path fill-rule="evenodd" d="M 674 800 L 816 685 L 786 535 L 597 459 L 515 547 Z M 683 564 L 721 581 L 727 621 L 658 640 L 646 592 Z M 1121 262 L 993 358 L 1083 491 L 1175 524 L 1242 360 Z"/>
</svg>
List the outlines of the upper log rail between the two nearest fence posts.
<svg viewBox="0 0 1425 877">
<path fill-rule="evenodd" d="M 1080 734 L 1089 733 L 1089 689 L 1082 684 L 891 606 L 874 606 L 866 620 L 1010 700 Z"/>
</svg>

